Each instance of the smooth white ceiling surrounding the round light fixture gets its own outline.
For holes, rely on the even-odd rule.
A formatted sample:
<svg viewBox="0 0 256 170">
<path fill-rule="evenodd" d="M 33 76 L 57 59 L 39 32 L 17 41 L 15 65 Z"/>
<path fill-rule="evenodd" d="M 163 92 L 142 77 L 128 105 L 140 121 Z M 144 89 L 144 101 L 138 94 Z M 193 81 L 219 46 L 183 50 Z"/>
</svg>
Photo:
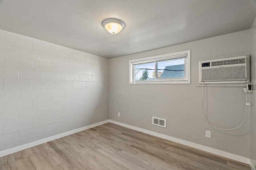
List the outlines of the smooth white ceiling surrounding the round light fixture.
<svg viewBox="0 0 256 170">
<path fill-rule="evenodd" d="M 106 18 L 126 23 L 118 34 Z M 256 0 L 0 0 L 0 29 L 106 58 L 250 29 Z"/>
</svg>

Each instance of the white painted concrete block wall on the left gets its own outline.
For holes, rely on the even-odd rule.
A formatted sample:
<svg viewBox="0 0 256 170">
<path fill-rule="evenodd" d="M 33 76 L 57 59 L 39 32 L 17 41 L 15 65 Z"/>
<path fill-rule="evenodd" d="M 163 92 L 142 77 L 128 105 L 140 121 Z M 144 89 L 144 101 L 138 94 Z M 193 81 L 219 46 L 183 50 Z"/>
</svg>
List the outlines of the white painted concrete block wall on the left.
<svg viewBox="0 0 256 170">
<path fill-rule="evenodd" d="M 0 151 L 108 119 L 108 70 L 108 59 L 0 30 Z"/>
</svg>

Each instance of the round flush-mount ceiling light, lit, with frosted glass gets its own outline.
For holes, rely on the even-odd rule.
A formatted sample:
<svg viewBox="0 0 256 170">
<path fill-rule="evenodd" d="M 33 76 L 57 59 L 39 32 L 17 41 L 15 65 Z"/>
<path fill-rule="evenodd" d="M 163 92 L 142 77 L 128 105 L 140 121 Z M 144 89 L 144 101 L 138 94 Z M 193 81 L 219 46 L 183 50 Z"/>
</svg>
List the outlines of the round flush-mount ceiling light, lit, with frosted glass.
<svg viewBox="0 0 256 170">
<path fill-rule="evenodd" d="M 124 21 L 121 21 L 116 18 L 108 18 L 102 22 L 102 25 L 106 30 L 112 34 L 119 33 L 124 29 Z"/>
</svg>

